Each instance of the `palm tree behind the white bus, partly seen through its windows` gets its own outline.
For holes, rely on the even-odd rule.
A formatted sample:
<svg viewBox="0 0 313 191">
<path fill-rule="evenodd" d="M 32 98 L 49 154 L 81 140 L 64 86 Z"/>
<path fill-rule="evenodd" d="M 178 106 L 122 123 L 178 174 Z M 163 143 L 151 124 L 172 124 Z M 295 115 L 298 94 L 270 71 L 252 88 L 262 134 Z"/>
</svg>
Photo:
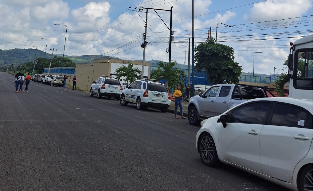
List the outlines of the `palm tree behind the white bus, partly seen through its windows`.
<svg viewBox="0 0 313 191">
<path fill-rule="evenodd" d="M 288 68 L 288 57 L 285 59 L 283 66 L 284 69 Z M 309 61 L 309 66 L 312 66 L 312 61 Z M 303 76 L 305 76 L 304 60 L 298 59 L 297 78 L 302 78 Z M 284 86 L 287 82 L 289 82 L 288 73 L 281 74 L 275 80 L 274 87 L 278 97 L 285 97 Z"/>
</svg>

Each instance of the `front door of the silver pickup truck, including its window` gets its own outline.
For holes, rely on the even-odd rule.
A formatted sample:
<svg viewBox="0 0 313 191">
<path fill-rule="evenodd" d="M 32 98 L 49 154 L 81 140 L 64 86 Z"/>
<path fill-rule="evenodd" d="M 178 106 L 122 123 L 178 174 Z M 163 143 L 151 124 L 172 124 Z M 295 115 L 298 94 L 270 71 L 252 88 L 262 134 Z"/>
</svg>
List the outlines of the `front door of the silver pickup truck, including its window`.
<svg viewBox="0 0 313 191">
<path fill-rule="evenodd" d="M 219 86 L 213 86 L 208 89 L 201 99 L 199 99 L 199 114 L 213 117 L 215 115 L 215 99 Z"/>
</svg>

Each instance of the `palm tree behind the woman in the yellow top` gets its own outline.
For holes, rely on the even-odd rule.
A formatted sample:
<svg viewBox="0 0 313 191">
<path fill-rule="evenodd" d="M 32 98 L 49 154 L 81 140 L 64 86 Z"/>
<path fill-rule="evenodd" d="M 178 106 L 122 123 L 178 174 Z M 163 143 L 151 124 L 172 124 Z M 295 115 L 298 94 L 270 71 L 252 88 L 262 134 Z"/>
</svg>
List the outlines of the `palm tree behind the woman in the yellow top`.
<svg viewBox="0 0 313 191">
<path fill-rule="evenodd" d="M 167 88 L 170 91 L 174 91 L 177 84 L 180 84 L 182 88 L 181 90 L 184 91 L 186 73 L 181 68 L 178 68 L 178 63 L 176 61 L 171 61 L 169 63 L 160 61 L 156 66 L 158 68 L 153 70 L 151 78 L 158 81 L 165 79 Z"/>
</svg>

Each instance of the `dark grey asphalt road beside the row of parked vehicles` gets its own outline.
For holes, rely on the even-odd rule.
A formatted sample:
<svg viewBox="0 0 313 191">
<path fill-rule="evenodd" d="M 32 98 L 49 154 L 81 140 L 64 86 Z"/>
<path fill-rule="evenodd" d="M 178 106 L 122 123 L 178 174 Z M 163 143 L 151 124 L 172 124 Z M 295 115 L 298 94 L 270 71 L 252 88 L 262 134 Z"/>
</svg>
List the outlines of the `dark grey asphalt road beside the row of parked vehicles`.
<svg viewBox="0 0 313 191">
<path fill-rule="evenodd" d="M 285 190 L 205 166 L 187 119 L 34 82 L 15 93 L 13 82 L 0 73 L 0 190 Z"/>
</svg>

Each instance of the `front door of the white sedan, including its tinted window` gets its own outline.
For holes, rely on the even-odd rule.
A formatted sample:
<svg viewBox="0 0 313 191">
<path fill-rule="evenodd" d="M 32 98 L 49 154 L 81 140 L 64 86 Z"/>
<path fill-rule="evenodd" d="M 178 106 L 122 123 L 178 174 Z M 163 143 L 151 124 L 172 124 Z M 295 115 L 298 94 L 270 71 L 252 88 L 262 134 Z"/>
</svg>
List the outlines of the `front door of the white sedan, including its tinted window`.
<svg viewBox="0 0 313 191">
<path fill-rule="evenodd" d="M 218 144 L 223 160 L 261 173 L 260 133 L 271 109 L 270 102 L 244 104 L 227 113 Z"/>
</svg>

